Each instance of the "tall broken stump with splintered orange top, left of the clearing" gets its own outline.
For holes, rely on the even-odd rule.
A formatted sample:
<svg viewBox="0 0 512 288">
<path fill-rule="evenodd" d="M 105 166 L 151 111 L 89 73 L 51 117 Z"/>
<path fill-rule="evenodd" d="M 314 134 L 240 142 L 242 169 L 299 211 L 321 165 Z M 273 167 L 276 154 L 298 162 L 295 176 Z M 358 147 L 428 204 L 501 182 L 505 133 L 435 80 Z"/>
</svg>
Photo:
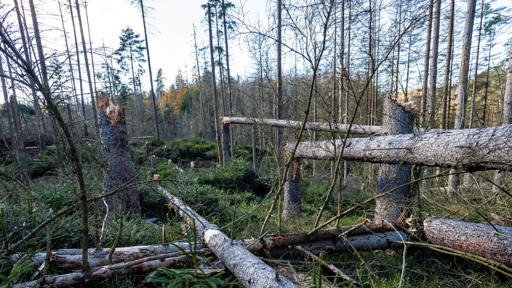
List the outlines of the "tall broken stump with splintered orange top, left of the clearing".
<svg viewBox="0 0 512 288">
<path fill-rule="evenodd" d="M 99 127 L 103 145 L 104 186 L 106 193 L 112 192 L 135 179 L 124 107 L 115 106 L 109 93 L 97 96 Z M 140 213 L 139 195 L 136 187 L 119 190 L 120 200 L 125 209 Z M 115 196 L 107 197 L 109 211 L 114 211 Z"/>
</svg>

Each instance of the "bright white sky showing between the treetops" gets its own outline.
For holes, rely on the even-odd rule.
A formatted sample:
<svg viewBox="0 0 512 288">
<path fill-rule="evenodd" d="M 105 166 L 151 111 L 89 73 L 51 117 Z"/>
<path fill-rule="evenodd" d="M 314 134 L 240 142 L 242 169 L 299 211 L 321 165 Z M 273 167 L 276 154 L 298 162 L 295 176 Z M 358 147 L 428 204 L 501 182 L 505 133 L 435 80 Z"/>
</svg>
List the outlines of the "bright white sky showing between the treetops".
<svg viewBox="0 0 512 288">
<path fill-rule="evenodd" d="M 74 2 L 75 0 L 72 0 Z M 246 22 L 254 24 L 257 19 L 262 22 L 263 26 L 273 22 L 273 18 L 269 17 L 270 10 L 275 9 L 275 1 L 271 0 L 231 0 L 238 9 L 243 7 Z M 67 2 L 67 0 L 60 0 Z M 82 0 L 79 0 L 81 3 Z M 90 24 L 90 35 L 93 48 L 103 46 L 112 49 L 119 47 L 119 36 L 121 30 L 130 26 L 135 33 L 144 37 L 142 27 L 142 16 L 137 7 L 130 4 L 130 0 L 89 0 L 88 15 Z M 195 66 L 195 50 L 193 25 L 197 28 L 198 46 L 204 47 L 208 41 L 207 23 L 204 21 L 205 11 L 201 8 L 206 0 L 145 0 L 144 5 L 152 7 L 150 13 L 146 16 L 148 24 L 148 44 L 150 47 L 153 77 L 156 78 L 156 72 L 159 68 L 163 69 L 166 80 L 164 84 L 169 87 L 175 80 L 176 73 L 181 69 L 188 80 L 191 81 L 191 70 Z M 465 0 L 458 0 L 461 10 L 465 11 Z M 8 3 L 8 0 L 6 0 Z M 28 7 L 28 1 L 24 0 L 25 8 Z M 444 2 L 443 2 L 444 3 Z M 512 0 L 496 0 L 493 4 L 496 6 L 511 7 Z M 41 34 L 44 37 L 44 45 L 57 50 L 65 50 L 65 44 L 62 38 L 62 24 L 60 20 L 57 0 L 35 0 L 36 10 L 38 13 L 39 23 L 41 25 Z M 9 4 L 8 5 L 12 5 Z M 447 3 L 443 7 L 447 8 Z M 477 9 L 479 4 L 477 5 Z M 63 10 L 69 13 L 69 10 Z M 460 17 L 463 13 L 458 13 Z M 29 14 L 28 14 L 29 15 Z M 81 8 L 82 21 L 85 25 L 86 14 Z M 65 15 L 65 25 L 68 37 L 72 37 L 70 33 L 71 18 Z M 29 18 L 30 20 L 30 18 Z M 75 11 L 75 23 L 78 20 Z M 475 19 L 475 27 L 478 20 Z M 508 26 L 510 27 L 510 26 Z M 77 27 L 78 29 L 78 27 Z M 443 27 L 441 28 L 443 29 Z M 510 30 L 510 28 L 508 29 Z M 237 31 L 236 31 L 237 32 Z M 498 41 L 506 42 L 512 31 L 504 31 L 498 35 Z M 474 33 L 475 35 L 475 33 Z M 86 41 L 87 41 L 86 31 Z M 73 44 L 72 38 L 68 39 L 70 45 Z M 79 40 L 80 42 L 80 40 Z M 80 44 L 79 44 L 80 45 Z M 229 41 L 229 60 L 231 67 L 231 75 L 236 77 L 237 74 L 245 75 L 246 72 L 253 71 L 252 61 L 247 52 L 246 43 L 243 40 L 232 39 Z M 503 45 L 497 45 L 496 49 L 504 49 Z M 50 49 L 46 51 L 51 52 Z M 284 51 L 285 53 L 286 51 Z M 82 56 L 83 57 L 83 56 Z M 99 61 L 95 56 L 96 64 Z M 82 59 L 83 63 L 83 59 Z M 201 59 L 200 59 L 201 63 Z M 83 64 L 82 64 L 83 65 Z M 147 73 L 147 64 L 143 64 L 146 74 L 143 77 L 143 87 L 149 88 L 149 77 Z M 201 63 L 202 65 L 202 63 Z M 86 85 L 87 87 L 87 85 Z M 86 88 L 86 90 L 88 90 Z M 1 100 L 0 100 L 1 101 Z"/>
</svg>

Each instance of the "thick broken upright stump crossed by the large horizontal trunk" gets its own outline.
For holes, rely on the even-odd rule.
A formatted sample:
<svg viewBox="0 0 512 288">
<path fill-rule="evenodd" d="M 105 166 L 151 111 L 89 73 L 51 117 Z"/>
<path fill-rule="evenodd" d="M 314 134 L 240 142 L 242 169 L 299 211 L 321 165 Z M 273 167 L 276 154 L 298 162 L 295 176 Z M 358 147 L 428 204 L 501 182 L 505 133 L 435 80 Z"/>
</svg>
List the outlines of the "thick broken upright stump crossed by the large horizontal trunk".
<svg viewBox="0 0 512 288">
<path fill-rule="evenodd" d="M 387 97 L 382 111 L 382 130 L 388 135 L 412 133 L 413 116 L 412 111 L 406 111 L 397 100 Z M 380 164 L 376 193 L 386 193 L 411 182 L 411 169 L 411 165 L 400 163 Z M 410 194 L 411 187 L 406 186 L 378 198 L 375 202 L 375 222 L 398 221 Z"/>
</svg>

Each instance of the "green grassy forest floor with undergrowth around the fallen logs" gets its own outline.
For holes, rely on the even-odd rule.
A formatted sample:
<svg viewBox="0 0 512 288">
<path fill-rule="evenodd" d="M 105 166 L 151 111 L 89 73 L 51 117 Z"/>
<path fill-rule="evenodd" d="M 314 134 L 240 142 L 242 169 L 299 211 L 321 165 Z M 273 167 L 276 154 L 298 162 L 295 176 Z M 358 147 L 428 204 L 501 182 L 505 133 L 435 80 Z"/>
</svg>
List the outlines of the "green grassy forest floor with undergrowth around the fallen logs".
<svg viewBox="0 0 512 288">
<path fill-rule="evenodd" d="M 155 190 L 153 175 L 159 174 L 161 185 L 174 195 L 180 197 L 196 212 L 219 227 L 226 226 L 222 232 L 234 239 L 258 238 L 263 219 L 272 202 L 273 191 L 279 181 L 280 173 L 275 156 L 268 151 L 257 151 L 257 169 L 253 169 L 252 150 L 250 147 L 239 146 L 235 157 L 231 158 L 224 168 L 215 167 L 216 146 L 197 138 L 179 139 L 157 145 L 150 142 L 151 155 L 156 155 L 157 165 L 152 168 L 146 156 L 142 141 L 132 141 L 132 159 L 135 163 L 140 183 L 141 215 L 124 215 L 124 228 L 119 246 L 149 245 L 175 240 L 190 239 L 189 233 L 181 219 L 176 217 L 165 200 Z M 167 146 L 164 149 L 164 146 Z M 86 165 L 87 187 L 91 195 L 102 191 L 102 174 L 95 164 L 96 159 L 88 149 L 81 148 L 81 157 Z M 169 163 L 169 159 L 172 163 Z M 190 161 L 194 161 L 194 170 L 190 169 Z M 13 165 L 4 159 L 5 167 Z M 33 156 L 28 160 L 31 183 L 28 191 L 14 188 L 14 180 L 6 181 L 3 187 L 12 191 L 2 195 L 2 233 L 5 241 L 16 241 L 24 233 L 44 221 L 45 211 L 59 211 L 72 203 L 76 198 L 76 183 L 70 171 L 56 166 L 55 149 Z M 312 162 L 304 162 L 301 170 L 301 193 L 303 217 L 294 221 L 281 221 L 281 211 L 271 217 L 268 229 L 272 234 L 307 232 L 313 229 L 319 207 L 324 201 L 330 186 L 330 162 L 317 161 L 315 175 L 312 173 Z M 203 168 L 204 167 L 204 168 Z M 334 216 L 337 212 L 338 195 L 341 195 L 341 209 L 346 210 L 360 203 L 375 193 L 375 179 L 378 165 L 353 163 L 347 183 L 341 192 L 332 193 L 327 210 L 322 220 Z M 361 175 L 364 175 L 362 177 Z M 475 176 L 475 183 L 457 199 L 448 199 L 443 190 L 446 179 L 437 178 L 421 186 L 416 219 L 424 219 L 434 215 L 473 222 L 485 222 L 488 219 L 500 225 L 510 225 L 501 217 L 510 215 L 510 198 L 507 195 L 495 194 L 482 179 L 492 177 L 485 172 Z M 440 188 L 441 187 L 441 188 Z M 25 193 L 25 194 L 24 194 Z M 233 218 L 236 199 L 236 218 L 241 218 L 230 225 Z M 339 225 L 355 225 L 373 219 L 374 202 L 363 205 L 340 219 Z M 102 210 L 100 210 L 102 211 Z M 103 213 L 100 213 L 104 215 Z M 243 216 L 243 217 L 242 217 Z M 500 218 L 501 217 L 501 218 Z M 148 220 L 151 219 L 151 220 Z M 101 220 L 103 218 L 101 217 Z M 162 230 L 162 227 L 164 229 Z M 90 231 L 94 230 L 90 221 Z M 104 221 L 101 246 L 110 247 L 118 230 L 118 222 L 113 217 Z M 231 231 L 232 230 L 232 231 Z M 164 235 L 162 235 L 162 231 Z M 70 213 L 55 220 L 51 225 L 52 249 L 80 248 L 80 215 L 79 211 Z M 27 252 L 27 256 L 44 252 L 46 247 L 45 233 L 23 245 L 19 251 Z M 91 233 L 92 234 L 92 233 Z M 165 240 L 165 241 L 163 241 Z M 91 235 L 94 243 L 94 235 Z M 3 251 L 6 249 L 4 243 Z M 94 244 L 92 244 L 94 245 Z M 2 252 L 3 252 L 2 251 Z M 512 279 L 495 273 L 483 265 L 460 257 L 440 254 L 425 248 L 409 246 L 407 253 L 403 250 L 386 250 L 360 253 L 323 255 L 323 259 L 335 264 L 340 270 L 364 287 L 510 287 Z M 302 287 L 317 284 L 324 287 L 346 286 L 346 283 L 334 280 L 333 276 L 323 270 L 318 272 L 318 264 L 307 257 L 281 259 L 272 261 L 264 259 L 270 265 L 278 265 L 282 275 L 298 281 Z M 197 268 L 198 261 L 180 266 L 180 269 Z M 29 280 L 36 268 L 27 261 L 10 262 L 0 260 L 0 287 Z M 185 270 L 183 270 L 185 271 Z M 403 272 L 402 272 L 403 271 Z M 53 268 L 50 274 L 58 274 Z M 318 276 L 321 274 L 321 276 Z M 144 282 L 143 276 L 123 276 L 105 280 L 101 283 L 89 283 L 86 286 L 101 285 L 104 287 L 149 287 L 160 286 L 154 282 Z M 154 276 L 154 275 L 153 275 Z M 158 273 L 160 282 L 169 285 L 174 280 L 186 287 L 186 283 L 197 287 L 241 287 L 240 282 L 229 272 L 211 274 L 205 277 L 176 274 L 166 270 Z M 180 278 L 181 277 L 181 278 Z M 193 280 L 190 280 L 193 279 Z M 187 282 L 189 281 L 189 282 Z M 191 281 L 191 282 L 190 282 Z M 193 286 L 193 285 L 189 286 Z M 194 286 L 194 287 L 196 287 Z M 174 287 L 174 285 L 172 286 Z"/>
</svg>

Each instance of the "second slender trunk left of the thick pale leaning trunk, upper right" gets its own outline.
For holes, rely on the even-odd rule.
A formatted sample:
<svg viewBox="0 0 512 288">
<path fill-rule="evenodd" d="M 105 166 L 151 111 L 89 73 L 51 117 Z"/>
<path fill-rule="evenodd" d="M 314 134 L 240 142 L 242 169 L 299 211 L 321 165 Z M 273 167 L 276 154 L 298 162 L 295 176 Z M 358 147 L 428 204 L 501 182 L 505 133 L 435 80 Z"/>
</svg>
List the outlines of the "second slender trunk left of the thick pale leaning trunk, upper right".
<svg viewBox="0 0 512 288">
<path fill-rule="evenodd" d="M 432 35 L 432 61 L 430 66 L 429 128 L 434 127 L 436 108 L 437 56 L 439 51 L 439 23 L 441 22 L 441 0 L 436 0 L 434 33 Z"/>
</svg>

